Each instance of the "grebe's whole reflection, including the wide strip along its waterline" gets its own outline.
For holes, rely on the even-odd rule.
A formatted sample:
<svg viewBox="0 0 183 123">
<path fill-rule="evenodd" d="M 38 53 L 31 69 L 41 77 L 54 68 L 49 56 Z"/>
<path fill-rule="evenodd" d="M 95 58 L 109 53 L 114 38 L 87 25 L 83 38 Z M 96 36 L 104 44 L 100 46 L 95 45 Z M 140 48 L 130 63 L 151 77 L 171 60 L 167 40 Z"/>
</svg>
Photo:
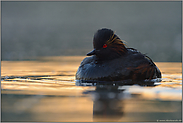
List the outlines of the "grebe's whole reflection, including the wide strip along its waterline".
<svg viewBox="0 0 183 123">
<path fill-rule="evenodd" d="M 77 86 L 95 86 L 95 90 L 84 91 L 83 94 L 89 94 L 93 100 L 93 121 L 115 122 L 119 121 L 124 115 L 123 100 L 130 98 L 131 94 L 126 93 L 121 87 L 124 85 L 133 85 L 136 83 L 109 83 L 109 82 L 86 82 L 76 81 Z M 154 82 L 138 82 L 141 86 L 155 86 Z M 133 95 L 134 96 L 134 95 Z"/>
</svg>

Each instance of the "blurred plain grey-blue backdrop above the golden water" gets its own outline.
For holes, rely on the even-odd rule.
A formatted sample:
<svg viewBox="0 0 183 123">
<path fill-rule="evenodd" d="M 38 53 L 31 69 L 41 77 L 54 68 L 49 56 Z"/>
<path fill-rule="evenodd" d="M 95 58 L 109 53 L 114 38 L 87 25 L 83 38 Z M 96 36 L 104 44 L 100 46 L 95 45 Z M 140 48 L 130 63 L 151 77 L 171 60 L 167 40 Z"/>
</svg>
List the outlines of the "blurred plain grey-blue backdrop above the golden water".
<svg viewBox="0 0 183 123">
<path fill-rule="evenodd" d="M 107 27 L 154 61 L 181 62 L 181 1 L 2 1 L 2 60 L 85 55 Z"/>
</svg>

